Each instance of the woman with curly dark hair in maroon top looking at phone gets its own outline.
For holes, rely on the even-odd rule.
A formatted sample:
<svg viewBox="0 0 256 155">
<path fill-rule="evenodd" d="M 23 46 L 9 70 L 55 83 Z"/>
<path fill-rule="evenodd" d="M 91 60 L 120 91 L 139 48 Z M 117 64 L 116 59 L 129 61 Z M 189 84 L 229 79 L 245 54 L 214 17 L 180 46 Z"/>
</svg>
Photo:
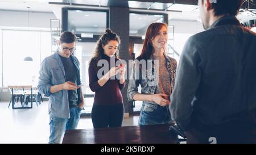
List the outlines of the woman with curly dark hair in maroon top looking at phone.
<svg viewBox="0 0 256 155">
<path fill-rule="evenodd" d="M 118 58 L 120 42 L 119 36 L 107 29 L 98 40 L 89 62 L 89 86 L 95 92 L 92 108 L 94 128 L 121 127 L 123 122 L 121 90 L 125 87 L 126 67 Z"/>
</svg>

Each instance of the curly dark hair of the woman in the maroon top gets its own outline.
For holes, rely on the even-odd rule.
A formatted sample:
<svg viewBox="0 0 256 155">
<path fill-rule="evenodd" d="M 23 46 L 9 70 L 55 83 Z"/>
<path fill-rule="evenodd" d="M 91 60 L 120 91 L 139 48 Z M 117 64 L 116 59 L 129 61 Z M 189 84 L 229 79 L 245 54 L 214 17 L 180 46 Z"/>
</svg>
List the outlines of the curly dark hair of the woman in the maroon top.
<svg viewBox="0 0 256 155">
<path fill-rule="evenodd" d="M 96 65 L 97 67 L 97 62 L 102 59 L 102 56 L 104 56 L 104 49 L 102 48 L 102 45 L 105 46 L 111 40 L 115 40 L 118 42 L 118 48 L 117 48 L 117 52 L 115 52 L 115 58 L 119 58 L 119 47 L 121 44 L 120 37 L 116 33 L 112 32 L 110 29 L 106 29 L 104 35 L 102 35 L 100 39 L 97 41 L 97 45 L 94 50 L 93 57 L 90 59 L 89 64 L 91 64 L 91 62 L 94 61 L 96 62 L 96 64 L 93 64 L 93 65 Z"/>
</svg>

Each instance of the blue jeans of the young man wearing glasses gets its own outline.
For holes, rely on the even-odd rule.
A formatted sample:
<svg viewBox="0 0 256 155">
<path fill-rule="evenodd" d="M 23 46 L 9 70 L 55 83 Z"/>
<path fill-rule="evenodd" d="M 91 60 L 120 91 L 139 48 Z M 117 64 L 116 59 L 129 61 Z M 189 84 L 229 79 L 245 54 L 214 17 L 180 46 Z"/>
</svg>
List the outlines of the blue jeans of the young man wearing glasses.
<svg viewBox="0 0 256 155">
<path fill-rule="evenodd" d="M 69 110 L 70 118 L 63 119 L 49 114 L 50 136 L 49 144 L 62 143 L 66 129 L 76 129 L 80 120 L 81 108 Z"/>
</svg>

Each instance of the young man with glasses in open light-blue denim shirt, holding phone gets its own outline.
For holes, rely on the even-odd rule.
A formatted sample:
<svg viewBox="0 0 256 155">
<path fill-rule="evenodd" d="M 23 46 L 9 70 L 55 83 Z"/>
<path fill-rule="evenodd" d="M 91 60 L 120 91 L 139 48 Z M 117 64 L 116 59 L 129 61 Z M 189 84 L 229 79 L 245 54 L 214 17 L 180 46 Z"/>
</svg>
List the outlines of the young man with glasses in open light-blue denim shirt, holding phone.
<svg viewBox="0 0 256 155">
<path fill-rule="evenodd" d="M 61 33 L 59 50 L 46 57 L 40 67 L 38 90 L 49 97 L 49 143 L 62 143 L 66 129 L 76 129 L 84 107 L 76 36 Z"/>
</svg>

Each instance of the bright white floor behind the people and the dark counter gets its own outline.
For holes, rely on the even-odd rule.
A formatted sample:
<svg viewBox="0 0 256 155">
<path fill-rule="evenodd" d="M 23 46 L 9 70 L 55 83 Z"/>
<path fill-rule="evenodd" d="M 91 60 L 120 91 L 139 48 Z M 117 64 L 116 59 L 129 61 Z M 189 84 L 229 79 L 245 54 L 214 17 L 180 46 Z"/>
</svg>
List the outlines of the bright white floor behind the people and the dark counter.
<svg viewBox="0 0 256 155">
<path fill-rule="evenodd" d="M 48 102 L 32 109 L 8 108 L 0 102 L 0 143 L 48 143 Z M 123 119 L 123 126 L 137 125 L 139 116 Z M 81 118 L 78 129 L 93 128 L 89 117 Z"/>
</svg>

